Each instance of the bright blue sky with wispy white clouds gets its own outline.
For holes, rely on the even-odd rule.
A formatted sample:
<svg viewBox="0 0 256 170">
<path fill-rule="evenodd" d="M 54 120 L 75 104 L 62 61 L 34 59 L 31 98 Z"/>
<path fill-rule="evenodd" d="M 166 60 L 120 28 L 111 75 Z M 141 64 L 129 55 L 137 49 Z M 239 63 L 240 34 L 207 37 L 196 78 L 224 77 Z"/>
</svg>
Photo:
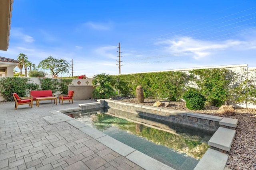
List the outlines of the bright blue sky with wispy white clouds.
<svg viewBox="0 0 256 170">
<path fill-rule="evenodd" d="M 74 76 L 118 74 L 119 42 L 121 73 L 256 67 L 256 1 L 14 0 L 0 56 L 38 65 L 52 55 L 73 59 Z"/>
</svg>

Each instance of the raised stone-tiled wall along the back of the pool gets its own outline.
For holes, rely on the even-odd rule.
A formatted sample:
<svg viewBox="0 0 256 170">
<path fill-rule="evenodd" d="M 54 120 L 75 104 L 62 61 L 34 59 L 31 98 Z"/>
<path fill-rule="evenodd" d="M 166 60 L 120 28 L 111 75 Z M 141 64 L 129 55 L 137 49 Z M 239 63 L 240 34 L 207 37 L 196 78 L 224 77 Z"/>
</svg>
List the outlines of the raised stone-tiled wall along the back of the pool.
<svg viewBox="0 0 256 170">
<path fill-rule="evenodd" d="M 158 122 L 163 120 L 209 131 L 216 131 L 218 127 L 220 127 L 220 121 L 223 118 L 219 116 L 190 113 L 187 111 L 166 109 L 155 106 L 145 106 L 141 104 L 132 104 L 128 102 L 108 99 L 98 100 L 98 102 L 94 104 L 83 104 L 80 107 L 82 107 L 82 110 L 98 107 L 109 107 L 120 110 L 121 114 L 123 113 L 122 117 L 128 119 L 129 115 L 127 115 L 126 112 L 138 114 L 138 117 L 141 117 L 143 119 L 156 119 L 156 125 Z"/>
</svg>

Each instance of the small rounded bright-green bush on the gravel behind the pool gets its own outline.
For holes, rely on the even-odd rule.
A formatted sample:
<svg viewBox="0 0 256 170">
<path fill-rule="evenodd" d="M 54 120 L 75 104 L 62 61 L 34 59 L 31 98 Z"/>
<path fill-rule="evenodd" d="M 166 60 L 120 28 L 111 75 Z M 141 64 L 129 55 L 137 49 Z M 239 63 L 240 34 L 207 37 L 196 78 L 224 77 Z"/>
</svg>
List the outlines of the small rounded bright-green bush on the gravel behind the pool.
<svg viewBox="0 0 256 170">
<path fill-rule="evenodd" d="M 203 110 L 206 98 L 194 88 L 189 89 L 183 95 L 186 100 L 186 107 L 190 110 Z"/>
</svg>

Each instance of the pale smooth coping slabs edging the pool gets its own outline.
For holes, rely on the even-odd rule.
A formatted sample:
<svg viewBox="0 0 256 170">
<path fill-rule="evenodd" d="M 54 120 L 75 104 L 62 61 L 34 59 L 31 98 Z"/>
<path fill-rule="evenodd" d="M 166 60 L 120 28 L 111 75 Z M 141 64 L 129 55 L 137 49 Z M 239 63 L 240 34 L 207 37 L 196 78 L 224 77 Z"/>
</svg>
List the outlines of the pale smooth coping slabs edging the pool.
<svg viewBox="0 0 256 170">
<path fill-rule="evenodd" d="M 167 108 L 159 108 L 159 107 L 155 107 L 155 106 L 145 106 L 145 105 L 141 105 L 141 104 L 131 104 L 128 102 L 121 102 L 121 101 L 114 101 L 114 100 L 107 100 L 107 99 L 101 99 L 98 100 L 98 102 L 94 102 L 94 103 L 90 103 L 90 104 L 79 104 L 79 107 L 77 108 L 77 111 L 82 110 L 82 107 L 84 106 L 100 106 L 103 107 L 104 104 L 102 104 L 103 102 L 110 102 L 110 103 L 118 103 L 120 105 L 126 105 L 126 106 L 134 106 L 134 107 L 138 107 L 138 108 L 146 108 L 146 109 L 152 109 L 152 110 L 156 110 L 156 111 L 164 111 L 167 113 L 171 113 L 171 114 L 178 114 L 178 115 L 187 115 L 187 116 L 191 116 L 191 117 L 197 117 L 197 118 L 203 118 L 203 119 L 208 119 L 208 120 L 212 120 L 212 121 L 218 121 L 220 123 L 220 127 L 213 135 L 213 137 L 210 139 L 211 141 L 214 142 L 209 142 L 208 144 L 211 146 L 211 148 L 209 148 L 206 152 L 207 154 L 204 154 L 204 156 L 201 158 L 201 160 L 199 161 L 199 163 L 196 165 L 196 167 L 194 168 L 195 170 L 203 170 L 203 169 L 209 169 L 209 170 L 218 170 L 219 169 L 224 169 L 226 166 L 226 162 L 228 160 L 228 155 L 226 153 L 223 153 L 223 151 L 229 151 L 230 147 L 232 145 L 233 139 L 234 139 L 234 135 L 236 133 L 236 131 L 234 130 L 234 128 L 236 127 L 238 120 L 237 119 L 231 119 L 231 118 L 226 118 L 226 117 L 218 117 L 218 116 L 213 116 L 213 115 L 204 115 L 204 114 L 200 114 L 200 113 L 191 113 L 191 112 L 187 112 L 187 111 L 179 111 L 179 110 L 174 110 L 174 109 L 167 109 Z M 74 108 L 70 108 L 70 110 L 68 109 L 63 109 L 63 110 L 58 110 L 58 112 L 56 112 L 56 114 L 61 113 L 60 111 L 74 111 Z M 54 113 L 53 113 L 54 114 Z M 71 125 L 73 125 L 74 127 L 80 129 L 81 131 L 83 131 L 84 133 L 90 133 L 88 132 L 88 130 L 86 128 L 82 128 L 81 124 L 79 121 L 79 123 L 74 123 L 74 121 L 67 121 L 68 123 L 70 123 Z M 83 124 L 83 123 L 82 123 Z M 84 124 L 83 124 L 84 125 Z M 86 125 L 85 125 L 86 126 Z M 227 129 L 226 127 L 231 127 L 231 129 L 228 129 L 228 131 L 232 131 L 232 135 L 228 135 L 228 139 L 222 138 L 223 135 L 225 135 L 223 133 L 223 129 Z M 233 129 L 232 129 L 233 128 Z M 90 129 L 90 128 L 89 128 Z M 93 128 L 92 128 L 93 129 Z M 96 129 L 95 129 L 96 130 Z M 97 131 L 97 130 L 96 130 Z M 224 130 L 225 131 L 225 130 Z M 94 135 L 94 139 L 101 139 L 102 137 L 106 136 L 106 135 L 100 135 L 100 133 L 97 132 L 98 135 Z M 88 134 L 89 135 L 89 134 Z M 91 134 L 92 135 L 92 134 Z M 110 137 L 111 138 L 111 137 Z M 115 139 L 114 139 L 115 140 Z M 101 140 L 102 141 L 102 140 Z M 228 141 L 228 142 L 227 142 Z M 110 149 L 118 152 L 121 155 L 126 155 L 126 152 L 122 152 L 120 150 L 118 150 L 117 148 L 119 147 L 112 147 L 113 143 L 120 143 L 119 141 L 112 141 L 108 144 L 106 143 L 106 146 L 109 147 Z M 224 144 L 223 144 L 224 143 Z M 228 144 L 227 144 L 228 143 Z M 123 144 L 123 143 L 122 143 Z M 105 144 L 104 144 L 105 145 Z M 108 146 L 109 145 L 109 146 Z M 125 145 L 125 144 L 123 144 Z M 224 146 L 225 145 L 225 146 Z M 117 145 L 114 145 L 117 146 Z M 122 146 L 120 144 L 120 146 Z M 127 145 L 126 145 L 127 146 Z M 224 146 L 224 147 L 223 147 Z M 127 146 L 129 148 L 129 146 Z M 217 149 L 217 150 L 214 150 Z M 219 151 L 218 151 L 219 149 Z M 223 150 L 222 150 L 223 149 Z M 129 149 L 128 149 L 129 150 Z M 213 151 L 214 150 L 214 151 Z M 137 151 L 137 150 L 136 150 Z M 135 152 L 135 151 L 133 151 Z M 131 152 L 130 154 L 132 154 L 133 152 Z M 138 151 L 139 152 L 139 151 Z M 137 152 L 137 153 L 138 153 Z M 126 154 L 125 154 L 126 153 Z M 141 153 L 141 152 L 140 152 Z M 130 155 L 128 154 L 128 155 Z M 126 156 L 128 156 L 126 155 Z M 140 154 L 143 155 L 143 154 Z M 125 157 L 126 157 L 125 156 Z M 147 156 L 146 156 L 147 157 Z M 149 157 L 149 156 L 148 156 Z M 128 156 L 129 158 L 133 158 L 133 156 Z M 151 158 L 151 157 L 149 157 Z M 148 159 L 149 159 L 148 158 Z M 130 159 L 129 159 L 130 160 Z M 214 160 L 218 160 L 218 161 L 214 161 Z M 132 162 L 138 164 L 140 161 L 136 162 L 136 160 L 131 160 Z M 157 160 L 156 160 L 157 161 Z M 149 162 L 147 161 L 146 164 L 138 164 L 139 166 L 141 166 L 142 168 L 145 169 L 150 169 L 151 167 L 154 167 L 154 164 L 156 164 L 156 162 L 154 164 L 152 164 L 152 166 L 150 165 L 150 167 L 148 167 L 148 164 L 150 164 L 152 162 L 152 160 L 150 160 Z M 159 162 L 159 161 L 158 161 Z M 161 163 L 161 162 L 160 162 Z M 161 163 L 163 164 L 163 163 Z M 165 164 L 164 164 L 165 165 Z M 166 165 L 167 166 L 167 165 Z M 159 165 L 157 165 L 154 168 L 159 168 Z M 153 169 L 154 169 L 153 168 Z M 171 168 L 168 166 L 168 168 Z M 217 168 L 217 169 L 216 169 Z M 163 168 L 165 169 L 165 168 Z M 173 169 L 173 168 L 171 168 Z"/>
</svg>

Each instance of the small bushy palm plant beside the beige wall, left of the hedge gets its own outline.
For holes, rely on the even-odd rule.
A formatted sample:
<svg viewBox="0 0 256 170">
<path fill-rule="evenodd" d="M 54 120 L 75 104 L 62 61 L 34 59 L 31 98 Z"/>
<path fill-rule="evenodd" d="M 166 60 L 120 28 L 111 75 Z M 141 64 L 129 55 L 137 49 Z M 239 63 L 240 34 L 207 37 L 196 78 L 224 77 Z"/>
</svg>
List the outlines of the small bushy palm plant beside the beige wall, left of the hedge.
<svg viewBox="0 0 256 170">
<path fill-rule="evenodd" d="M 94 98 L 110 98 L 115 96 L 114 89 L 110 86 L 112 78 L 106 74 L 97 74 L 92 80 L 92 85 L 96 88 L 92 91 L 92 96 Z"/>
</svg>

